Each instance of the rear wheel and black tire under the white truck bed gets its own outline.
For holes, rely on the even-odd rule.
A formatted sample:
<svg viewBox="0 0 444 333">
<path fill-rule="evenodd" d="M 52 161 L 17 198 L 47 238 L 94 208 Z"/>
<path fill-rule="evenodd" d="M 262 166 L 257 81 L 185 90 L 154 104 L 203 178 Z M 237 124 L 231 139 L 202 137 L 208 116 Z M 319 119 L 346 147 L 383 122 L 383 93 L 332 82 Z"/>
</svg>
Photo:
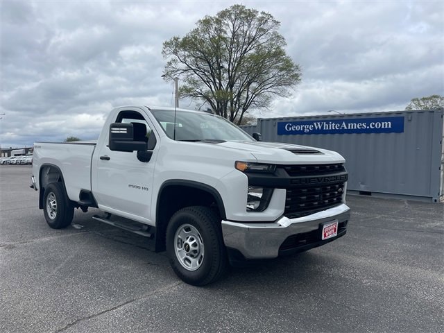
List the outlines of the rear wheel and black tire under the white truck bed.
<svg viewBox="0 0 444 333">
<path fill-rule="evenodd" d="M 62 229 L 71 224 L 74 205 L 60 182 L 52 182 L 44 189 L 43 203 L 44 218 L 51 228 Z"/>
</svg>

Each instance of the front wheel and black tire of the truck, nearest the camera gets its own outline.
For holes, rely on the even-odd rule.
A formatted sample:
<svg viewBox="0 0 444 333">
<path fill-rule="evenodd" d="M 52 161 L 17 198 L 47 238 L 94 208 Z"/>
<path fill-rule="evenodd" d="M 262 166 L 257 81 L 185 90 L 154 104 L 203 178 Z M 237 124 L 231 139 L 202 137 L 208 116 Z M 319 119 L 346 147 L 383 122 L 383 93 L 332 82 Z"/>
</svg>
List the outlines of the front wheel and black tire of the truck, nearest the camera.
<svg viewBox="0 0 444 333">
<path fill-rule="evenodd" d="M 203 286 L 221 278 L 228 267 L 221 219 L 208 207 L 186 207 L 167 226 L 167 254 L 183 281 Z"/>
</svg>

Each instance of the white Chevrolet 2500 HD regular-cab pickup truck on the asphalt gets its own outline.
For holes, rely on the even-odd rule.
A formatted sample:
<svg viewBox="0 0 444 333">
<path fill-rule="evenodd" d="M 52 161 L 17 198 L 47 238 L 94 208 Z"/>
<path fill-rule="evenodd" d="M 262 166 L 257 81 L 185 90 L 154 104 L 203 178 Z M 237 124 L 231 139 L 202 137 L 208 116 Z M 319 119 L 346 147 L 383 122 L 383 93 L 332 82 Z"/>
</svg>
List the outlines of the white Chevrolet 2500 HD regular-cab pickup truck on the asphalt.
<svg viewBox="0 0 444 333">
<path fill-rule="evenodd" d="M 33 189 L 51 228 L 74 209 L 150 239 L 176 274 L 204 285 L 228 264 L 273 258 L 346 232 L 338 153 L 258 142 L 207 112 L 115 108 L 96 142 L 35 142 Z"/>
</svg>

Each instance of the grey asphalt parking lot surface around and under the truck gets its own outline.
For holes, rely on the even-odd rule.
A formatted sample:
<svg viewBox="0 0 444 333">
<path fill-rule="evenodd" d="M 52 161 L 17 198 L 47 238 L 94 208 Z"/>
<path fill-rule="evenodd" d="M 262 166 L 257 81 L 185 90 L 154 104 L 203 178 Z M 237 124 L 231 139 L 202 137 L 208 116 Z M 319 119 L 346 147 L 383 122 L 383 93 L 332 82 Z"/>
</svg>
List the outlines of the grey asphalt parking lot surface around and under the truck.
<svg viewBox="0 0 444 333">
<path fill-rule="evenodd" d="M 0 332 L 444 330 L 443 204 L 349 196 L 345 237 L 198 288 L 95 210 L 50 229 L 30 176 L 0 166 Z"/>
</svg>

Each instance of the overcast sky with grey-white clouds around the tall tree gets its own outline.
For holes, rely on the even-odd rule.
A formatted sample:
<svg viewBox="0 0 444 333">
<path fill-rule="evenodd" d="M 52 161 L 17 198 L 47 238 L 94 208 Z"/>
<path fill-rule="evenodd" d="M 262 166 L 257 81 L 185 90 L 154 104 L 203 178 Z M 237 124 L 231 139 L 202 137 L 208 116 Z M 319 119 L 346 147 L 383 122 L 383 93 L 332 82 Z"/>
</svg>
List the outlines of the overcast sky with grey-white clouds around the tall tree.
<svg viewBox="0 0 444 333">
<path fill-rule="evenodd" d="M 302 67 L 293 96 L 255 116 L 404 110 L 444 94 L 444 1 L 1 0 L 1 147 L 95 139 L 114 106 L 173 106 L 162 42 L 234 3 L 278 19 Z"/>
</svg>

